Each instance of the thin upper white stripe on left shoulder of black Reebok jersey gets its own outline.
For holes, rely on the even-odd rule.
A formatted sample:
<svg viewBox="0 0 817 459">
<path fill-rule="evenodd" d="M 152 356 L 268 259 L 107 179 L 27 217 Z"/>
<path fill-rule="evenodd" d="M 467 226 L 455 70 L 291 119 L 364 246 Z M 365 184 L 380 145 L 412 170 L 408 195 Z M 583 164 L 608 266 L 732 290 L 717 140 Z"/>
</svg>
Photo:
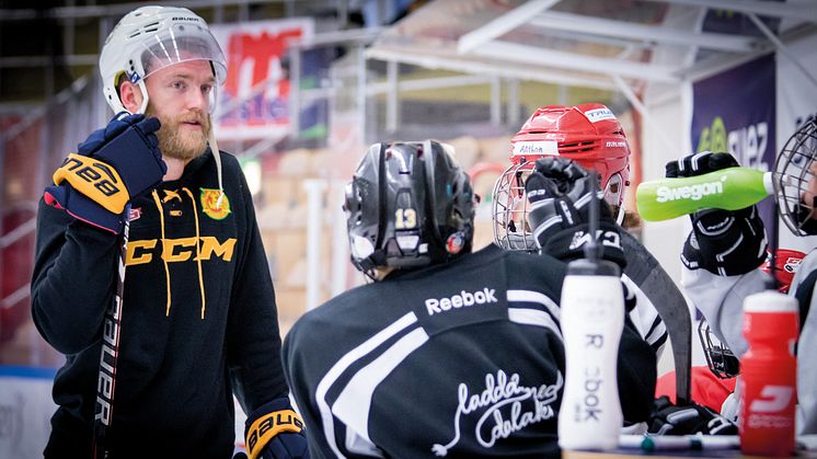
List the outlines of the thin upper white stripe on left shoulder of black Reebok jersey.
<svg viewBox="0 0 817 459">
<path fill-rule="evenodd" d="M 318 389 L 315 389 L 315 401 L 318 403 L 318 409 L 321 412 L 323 432 L 326 436 L 326 443 L 332 448 L 332 451 L 335 454 L 336 457 L 345 458 L 345 456 L 341 454 L 341 450 L 335 441 L 335 428 L 332 420 L 332 410 L 330 409 L 329 403 L 326 403 L 326 392 L 329 392 L 332 385 L 334 385 L 337 378 L 343 375 L 346 368 L 348 368 L 361 357 L 366 356 L 379 345 L 383 344 L 390 337 L 394 336 L 402 330 L 416 322 L 417 317 L 414 314 L 414 312 L 408 312 L 407 314 L 398 319 L 394 323 L 381 330 L 380 332 L 378 332 L 378 334 L 365 341 L 363 344 L 341 357 L 341 359 L 337 360 L 337 363 L 333 365 L 332 368 L 326 372 L 326 376 L 324 376 L 323 379 L 321 379 L 321 381 L 318 383 Z"/>
</svg>

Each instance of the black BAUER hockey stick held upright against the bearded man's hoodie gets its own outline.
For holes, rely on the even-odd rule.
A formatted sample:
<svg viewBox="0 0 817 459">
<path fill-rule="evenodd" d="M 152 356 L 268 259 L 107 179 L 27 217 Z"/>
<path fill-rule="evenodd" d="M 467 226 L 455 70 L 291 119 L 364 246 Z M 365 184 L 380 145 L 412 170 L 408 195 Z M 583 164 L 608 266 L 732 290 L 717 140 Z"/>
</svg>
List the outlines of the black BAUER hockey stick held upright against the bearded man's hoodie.
<svg viewBox="0 0 817 459">
<path fill-rule="evenodd" d="M 114 392 L 116 389 L 116 360 L 119 355 L 119 335 L 122 330 L 122 306 L 125 292 L 125 260 L 128 251 L 130 231 L 130 204 L 125 206 L 125 227 L 122 231 L 119 263 L 117 269 L 116 294 L 105 310 L 102 329 L 102 353 L 100 355 L 100 374 L 96 380 L 96 403 L 93 420 L 94 458 L 107 458 L 105 444 L 111 421 L 114 414 Z"/>
</svg>

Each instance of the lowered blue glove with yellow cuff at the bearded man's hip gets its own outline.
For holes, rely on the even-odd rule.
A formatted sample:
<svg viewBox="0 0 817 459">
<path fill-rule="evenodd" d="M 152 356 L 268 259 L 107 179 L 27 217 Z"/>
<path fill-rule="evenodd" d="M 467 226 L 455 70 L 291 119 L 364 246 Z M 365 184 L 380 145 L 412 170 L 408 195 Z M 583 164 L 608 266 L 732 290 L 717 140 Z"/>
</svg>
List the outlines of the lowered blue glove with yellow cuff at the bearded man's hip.
<svg viewBox="0 0 817 459">
<path fill-rule="evenodd" d="M 250 459 L 309 459 L 303 422 L 287 397 L 253 411 L 246 417 L 244 436 Z"/>
</svg>

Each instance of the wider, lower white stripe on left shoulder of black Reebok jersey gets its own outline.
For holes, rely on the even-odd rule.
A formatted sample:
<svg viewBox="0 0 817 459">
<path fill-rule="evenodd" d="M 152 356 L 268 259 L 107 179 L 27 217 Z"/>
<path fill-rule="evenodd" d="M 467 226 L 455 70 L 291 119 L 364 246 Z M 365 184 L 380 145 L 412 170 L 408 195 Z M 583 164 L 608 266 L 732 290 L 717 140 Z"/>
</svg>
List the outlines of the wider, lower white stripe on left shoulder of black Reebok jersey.
<svg viewBox="0 0 817 459">
<path fill-rule="evenodd" d="M 352 377 L 332 405 L 332 413 L 346 424 L 346 428 L 350 427 L 364 440 L 371 444 L 369 438 L 369 410 L 371 409 L 371 398 L 375 394 L 375 389 L 398 365 L 427 341 L 428 334 L 421 328 L 412 330 L 398 340 Z"/>
</svg>

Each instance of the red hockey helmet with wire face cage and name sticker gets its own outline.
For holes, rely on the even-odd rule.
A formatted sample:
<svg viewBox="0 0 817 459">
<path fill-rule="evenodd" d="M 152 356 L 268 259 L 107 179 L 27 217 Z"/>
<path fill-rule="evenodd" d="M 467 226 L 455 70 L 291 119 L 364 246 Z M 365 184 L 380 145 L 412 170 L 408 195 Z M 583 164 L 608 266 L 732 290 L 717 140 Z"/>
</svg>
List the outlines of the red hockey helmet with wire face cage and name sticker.
<svg viewBox="0 0 817 459">
<path fill-rule="evenodd" d="M 605 199 L 621 208 L 630 184 L 630 144 L 615 115 L 598 103 L 537 110 L 510 139 L 510 162 L 494 186 L 494 240 L 504 249 L 536 245 L 527 225 L 525 180 L 537 159 L 569 158 L 596 171 Z"/>
</svg>

